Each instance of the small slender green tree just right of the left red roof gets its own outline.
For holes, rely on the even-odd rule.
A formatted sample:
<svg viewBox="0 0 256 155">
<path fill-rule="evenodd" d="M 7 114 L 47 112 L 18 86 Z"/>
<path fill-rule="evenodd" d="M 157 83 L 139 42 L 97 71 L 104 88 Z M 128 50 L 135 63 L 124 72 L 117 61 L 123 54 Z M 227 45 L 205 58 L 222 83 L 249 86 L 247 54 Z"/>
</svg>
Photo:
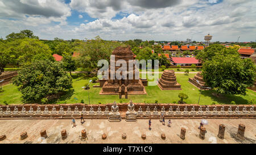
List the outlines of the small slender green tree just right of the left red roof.
<svg viewBox="0 0 256 155">
<path fill-rule="evenodd" d="M 73 59 L 72 55 L 69 53 L 64 53 L 61 62 L 64 70 L 68 71 L 70 73 L 70 76 L 72 77 L 71 71 L 75 71 L 77 69 L 76 61 Z"/>
</svg>

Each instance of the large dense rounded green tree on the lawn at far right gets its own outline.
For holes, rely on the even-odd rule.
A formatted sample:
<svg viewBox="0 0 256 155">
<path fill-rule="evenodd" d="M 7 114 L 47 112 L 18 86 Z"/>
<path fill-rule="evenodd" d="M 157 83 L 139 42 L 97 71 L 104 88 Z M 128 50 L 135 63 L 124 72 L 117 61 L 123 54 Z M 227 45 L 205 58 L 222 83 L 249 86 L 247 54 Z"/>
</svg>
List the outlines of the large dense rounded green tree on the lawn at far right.
<svg viewBox="0 0 256 155">
<path fill-rule="evenodd" d="M 246 88 L 254 85 L 256 68 L 250 58 L 239 55 L 216 55 L 203 64 L 207 86 L 221 94 L 246 95 Z"/>
</svg>

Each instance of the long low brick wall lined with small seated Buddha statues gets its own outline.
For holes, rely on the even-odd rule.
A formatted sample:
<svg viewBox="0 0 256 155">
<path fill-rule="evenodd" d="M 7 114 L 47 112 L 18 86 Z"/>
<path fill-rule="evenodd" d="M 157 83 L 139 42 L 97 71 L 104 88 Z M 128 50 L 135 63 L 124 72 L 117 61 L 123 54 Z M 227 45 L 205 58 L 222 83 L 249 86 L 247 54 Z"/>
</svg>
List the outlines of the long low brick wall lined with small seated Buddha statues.
<svg viewBox="0 0 256 155">
<path fill-rule="evenodd" d="M 128 103 L 117 104 L 121 117 L 125 118 Z M 108 119 L 112 104 L 19 104 L 0 106 L 0 119 L 40 119 L 40 118 L 84 118 Z M 135 103 L 138 119 L 166 118 L 256 118 L 253 105 L 211 105 L 197 104 L 144 104 Z"/>
</svg>

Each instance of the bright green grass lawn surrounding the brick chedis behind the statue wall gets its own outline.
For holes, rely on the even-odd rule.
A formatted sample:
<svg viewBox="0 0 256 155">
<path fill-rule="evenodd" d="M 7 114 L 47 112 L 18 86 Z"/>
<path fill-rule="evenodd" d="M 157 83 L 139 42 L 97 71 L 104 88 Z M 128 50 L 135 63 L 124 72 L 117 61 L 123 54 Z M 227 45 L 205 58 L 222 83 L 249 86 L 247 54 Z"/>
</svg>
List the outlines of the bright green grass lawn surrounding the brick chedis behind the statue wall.
<svg viewBox="0 0 256 155">
<path fill-rule="evenodd" d="M 93 85 L 99 85 L 99 83 L 91 83 L 90 89 L 84 90 L 82 89 L 82 86 L 84 86 L 84 83 L 88 82 L 89 79 L 82 79 L 79 77 L 73 79 L 73 93 L 67 94 L 65 97 L 61 97 L 56 104 L 80 103 L 81 99 L 84 100 L 85 104 L 88 104 L 88 93 L 90 97 L 90 104 L 98 104 L 99 102 L 101 104 L 112 103 L 114 100 L 117 103 L 120 101 L 122 101 L 122 103 L 127 103 L 130 99 L 137 103 L 155 103 L 155 100 L 158 100 L 158 103 L 173 103 L 174 101 L 177 103 L 179 100 L 177 96 L 181 92 L 188 95 L 188 99 L 185 100 L 185 102 L 197 104 L 200 90 L 188 82 L 188 78 L 193 76 L 195 76 L 195 74 L 189 74 L 189 76 L 176 74 L 177 82 L 180 83 L 182 90 L 160 90 L 157 85 L 147 86 L 147 95 L 128 95 L 128 99 L 119 99 L 118 95 L 99 95 L 101 88 L 92 87 Z M 16 86 L 12 84 L 5 85 L 3 86 L 3 90 L 4 91 L 0 93 L 0 104 L 3 104 L 3 101 L 5 100 L 9 104 L 22 103 L 21 93 L 19 93 Z M 199 104 L 212 104 L 212 102 L 216 102 L 216 104 L 230 104 L 233 100 L 236 104 L 247 104 L 248 100 L 256 98 L 256 93 L 249 89 L 247 89 L 247 95 L 245 96 L 224 95 L 223 97 L 215 97 L 212 93 L 214 93 L 212 90 L 202 90 Z"/>
</svg>

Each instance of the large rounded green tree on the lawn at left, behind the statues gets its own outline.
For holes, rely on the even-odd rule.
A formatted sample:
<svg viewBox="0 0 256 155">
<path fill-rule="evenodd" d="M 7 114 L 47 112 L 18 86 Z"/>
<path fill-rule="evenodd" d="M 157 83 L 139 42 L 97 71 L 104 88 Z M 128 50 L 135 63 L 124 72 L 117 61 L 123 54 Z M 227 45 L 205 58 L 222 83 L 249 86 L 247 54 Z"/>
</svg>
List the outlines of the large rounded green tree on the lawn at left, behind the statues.
<svg viewBox="0 0 256 155">
<path fill-rule="evenodd" d="M 67 76 L 59 62 L 39 60 L 24 65 L 13 78 L 24 102 L 40 102 L 46 98 L 68 93 L 72 89 L 72 79 Z"/>
</svg>

